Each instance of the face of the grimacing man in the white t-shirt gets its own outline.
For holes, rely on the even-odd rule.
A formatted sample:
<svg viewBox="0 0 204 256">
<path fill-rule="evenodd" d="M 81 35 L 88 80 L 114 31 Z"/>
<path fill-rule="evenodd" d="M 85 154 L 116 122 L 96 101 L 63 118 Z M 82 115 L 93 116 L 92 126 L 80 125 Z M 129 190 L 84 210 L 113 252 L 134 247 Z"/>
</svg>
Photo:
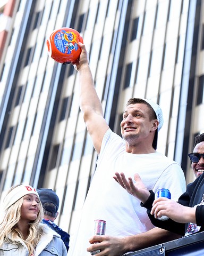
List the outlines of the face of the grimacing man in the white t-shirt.
<svg viewBox="0 0 204 256">
<path fill-rule="evenodd" d="M 134 145 L 135 141 L 146 139 L 150 135 L 155 121 L 150 121 L 149 111 L 148 106 L 143 103 L 131 104 L 125 108 L 121 122 L 121 134 L 130 145 Z"/>
</svg>

